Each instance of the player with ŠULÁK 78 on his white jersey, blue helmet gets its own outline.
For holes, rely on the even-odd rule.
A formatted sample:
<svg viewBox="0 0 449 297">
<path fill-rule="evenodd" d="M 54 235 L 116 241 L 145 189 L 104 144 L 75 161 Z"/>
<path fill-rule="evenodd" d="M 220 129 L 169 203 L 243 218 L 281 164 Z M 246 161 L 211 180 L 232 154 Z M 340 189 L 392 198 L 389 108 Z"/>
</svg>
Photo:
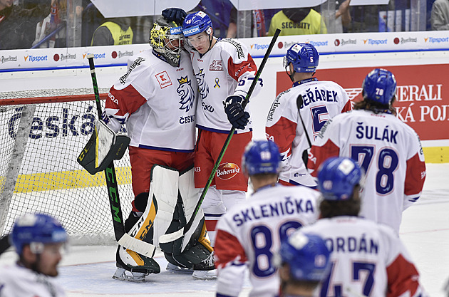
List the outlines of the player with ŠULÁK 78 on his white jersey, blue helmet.
<svg viewBox="0 0 449 297">
<path fill-rule="evenodd" d="M 312 175 L 329 157 L 350 157 L 366 172 L 361 216 L 399 232 L 402 212 L 423 190 L 425 163 L 416 132 L 396 118 L 396 79 L 376 68 L 363 80 L 363 100 L 321 129 L 309 154 Z"/>
</svg>

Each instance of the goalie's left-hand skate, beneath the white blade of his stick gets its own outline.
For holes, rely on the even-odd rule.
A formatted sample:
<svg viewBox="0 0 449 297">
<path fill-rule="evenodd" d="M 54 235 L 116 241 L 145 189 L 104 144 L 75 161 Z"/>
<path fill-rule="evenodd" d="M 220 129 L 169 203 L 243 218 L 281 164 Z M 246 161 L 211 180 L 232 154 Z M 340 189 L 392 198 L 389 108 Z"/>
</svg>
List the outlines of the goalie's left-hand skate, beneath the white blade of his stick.
<svg viewBox="0 0 449 297">
<path fill-rule="evenodd" d="M 117 270 L 113 278 L 120 281 L 143 282 L 150 273 L 160 273 L 158 262 L 135 251 L 118 246 L 115 256 Z"/>
</svg>

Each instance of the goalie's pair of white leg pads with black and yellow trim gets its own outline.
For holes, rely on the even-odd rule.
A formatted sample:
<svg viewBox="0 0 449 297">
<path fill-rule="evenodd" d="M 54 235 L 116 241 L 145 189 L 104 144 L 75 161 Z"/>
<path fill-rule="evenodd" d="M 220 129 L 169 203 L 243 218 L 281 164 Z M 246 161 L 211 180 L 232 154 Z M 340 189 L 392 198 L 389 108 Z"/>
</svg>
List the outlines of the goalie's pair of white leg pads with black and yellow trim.
<svg viewBox="0 0 449 297">
<path fill-rule="evenodd" d="M 195 212 L 200 195 L 199 189 L 193 185 L 193 168 L 180 173 L 170 167 L 154 165 L 150 192 L 135 197 L 135 207 L 143 215 L 135 217 L 131 212 L 125 221 L 125 231 L 135 239 L 159 246 L 165 259 L 175 266 L 208 271 L 215 269 L 215 266 L 202 210 L 196 214 L 194 224 L 185 234 L 172 235 L 186 226 Z M 135 272 L 160 272 L 158 263 L 152 257 L 122 246 L 118 247 L 116 258 L 118 271 L 114 278 L 136 281 Z M 123 269 L 133 272 L 133 276 L 126 276 Z M 138 278 L 138 281 L 143 279 Z"/>
</svg>

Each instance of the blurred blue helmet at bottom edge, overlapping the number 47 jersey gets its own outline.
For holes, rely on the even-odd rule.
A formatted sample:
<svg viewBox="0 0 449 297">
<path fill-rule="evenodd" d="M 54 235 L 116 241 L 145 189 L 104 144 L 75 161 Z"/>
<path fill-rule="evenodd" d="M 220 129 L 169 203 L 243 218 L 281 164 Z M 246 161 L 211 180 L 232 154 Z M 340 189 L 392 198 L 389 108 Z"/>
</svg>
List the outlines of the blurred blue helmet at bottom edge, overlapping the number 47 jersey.
<svg viewBox="0 0 449 297">
<path fill-rule="evenodd" d="M 322 281 L 329 273 L 330 254 L 321 236 L 299 230 L 282 241 L 277 261 L 278 266 L 289 264 L 295 281 Z"/>
</svg>

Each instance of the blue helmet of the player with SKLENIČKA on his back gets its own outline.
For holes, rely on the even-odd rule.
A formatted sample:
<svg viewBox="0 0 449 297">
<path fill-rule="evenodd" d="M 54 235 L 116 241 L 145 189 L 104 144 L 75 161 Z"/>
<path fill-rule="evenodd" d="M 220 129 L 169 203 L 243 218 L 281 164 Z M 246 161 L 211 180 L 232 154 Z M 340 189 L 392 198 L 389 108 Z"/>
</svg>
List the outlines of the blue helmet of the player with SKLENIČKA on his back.
<svg viewBox="0 0 449 297">
<path fill-rule="evenodd" d="M 279 147 L 272 140 L 254 140 L 244 149 L 242 167 L 248 175 L 274 173 L 281 170 Z"/>
</svg>

